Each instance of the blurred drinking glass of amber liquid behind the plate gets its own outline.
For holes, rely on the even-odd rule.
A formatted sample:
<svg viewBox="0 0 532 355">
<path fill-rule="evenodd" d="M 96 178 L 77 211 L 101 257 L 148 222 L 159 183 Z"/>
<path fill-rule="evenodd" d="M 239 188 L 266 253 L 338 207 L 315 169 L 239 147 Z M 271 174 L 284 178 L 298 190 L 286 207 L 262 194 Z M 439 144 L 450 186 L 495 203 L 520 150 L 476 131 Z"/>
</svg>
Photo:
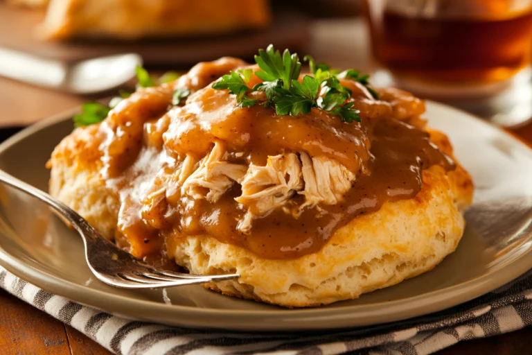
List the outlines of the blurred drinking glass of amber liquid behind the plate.
<svg viewBox="0 0 532 355">
<path fill-rule="evenodd" d="M 532 0 L 366 0 L 377 85 L 502 125 L 532 117 Z"/>
</svg>

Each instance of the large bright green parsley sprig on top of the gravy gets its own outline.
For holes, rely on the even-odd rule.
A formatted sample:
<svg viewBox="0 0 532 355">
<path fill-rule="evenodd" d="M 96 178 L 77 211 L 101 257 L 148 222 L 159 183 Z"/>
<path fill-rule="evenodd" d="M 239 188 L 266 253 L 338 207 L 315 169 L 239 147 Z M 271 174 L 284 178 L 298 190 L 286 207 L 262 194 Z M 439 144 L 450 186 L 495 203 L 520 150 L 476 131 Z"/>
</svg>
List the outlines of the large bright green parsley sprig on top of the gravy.
<svg viewBox="0 0 532 355">
<path fill-rule="evenodd" d="M 213 88 L 227 89 L 235 94 L 241 107 L 256 105 L 258 99 L 248 98 L 247 93 L 258 91 L 265 93 L 266 101 L 263 105 L 275 107 L 276 114 L 297 116 L 308 114 L 312 107 L 317 107 L 337 114 L 343 122 L 360 122 L 360 111 L 353 107 L 353 102 L 349 102 L 352 92 L 342 86 L 339 79 L 355 80 L 365 85 L 373 97 L 378 98 L 378 94 L 369 87 L 369 76 L 362 76 L 355 69 L 342 72 L 331 69 L 328 64 L 316 63 L 310 55 L 306 55 L 303 60 L 309 63 L 312 76 L 304 76 L 300 83 L 301 62 L 297 53 L 292 54 L 286 49 L 281 55 L 270 44 L 266 50 L 260 49 L 258 55 L 255 55 L 259 70 L 254 71 L 254 74 L 263 80 L 262 83 L 250 90 L 248 83 L 252 70 L 244 69 L 245 73 L 242 70 L 231 71 L 222 76 L 213 84 Z"/>
</svg>

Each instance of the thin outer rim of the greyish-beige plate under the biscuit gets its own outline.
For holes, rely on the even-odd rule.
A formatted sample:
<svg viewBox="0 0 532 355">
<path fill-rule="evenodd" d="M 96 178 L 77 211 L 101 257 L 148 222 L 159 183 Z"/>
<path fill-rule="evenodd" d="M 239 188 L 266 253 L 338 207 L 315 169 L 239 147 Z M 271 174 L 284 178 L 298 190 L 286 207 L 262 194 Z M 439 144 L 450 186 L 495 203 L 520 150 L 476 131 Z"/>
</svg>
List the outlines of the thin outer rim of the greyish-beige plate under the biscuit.
<svg viewBox="0 0 532 355">
<path fill-rule="evenodd" d="M 497 128 L 495 125 L 454 107 L 435 103 L 434 101 L 426 101 L 426 103 L 427 111 L 429 107 L 434 107 L 450 114 L 459 114 L 485 125 L 486 128 L 493 132 L 496 131 L 497 134 L 502 133 L 502 135 L 524 148 L 532 158 L 532 148 L 506 130 Z M 51 116 L 17 132 L 17 134 L 0 144 L 0 154 L 43 128 L 71 119 L 71 116 L 76 112 L 79 112 L 79 108 Z M 306 309 L 207 309 L 179 304 L 164 304 L 151 300 L 139 300 L 69 282 L 47 270 L 34 268 L 24 263 L 24 261 L 17 260 L 1 247 L 0 265 L 15 276 L 42 288 L 44 291 L 124 318 L 202 329 L 247 332 L 305 331 L 342 329 L 396 322 L 442 311 L 443 309 L 468 302 L 511 282 L 530 270 L 532 268 L 532 258 L 529 257 L 531 252 L 532 248 L 529 248 L 529 250 L 506 265 L 466 282 L 401 300 L 378 302 L 376 304 Z M 427 302 L 428 300 L 430 302 Z M 382 311 L 383 306 L 385 306 L 385 312 Z M 353 318 L 353 313 L 357 313 L 357 317 Z"/>
</svg>

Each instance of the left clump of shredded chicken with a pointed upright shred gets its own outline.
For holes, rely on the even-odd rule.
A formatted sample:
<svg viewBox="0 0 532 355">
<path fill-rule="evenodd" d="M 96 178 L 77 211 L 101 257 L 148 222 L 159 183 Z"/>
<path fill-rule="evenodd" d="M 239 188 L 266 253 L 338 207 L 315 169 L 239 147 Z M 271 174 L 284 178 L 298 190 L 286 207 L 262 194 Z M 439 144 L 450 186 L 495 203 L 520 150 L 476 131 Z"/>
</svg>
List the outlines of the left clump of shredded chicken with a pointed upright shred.
<svg viewBox="0 0 532 355">
<path fill-rule="evenodd" d="M 184 180 L 181 195 L 190 196 L 195 200 L 206 198 L 209 202 L 218 201 L 247 171 L 247 166 L 231 164 L 224 159 L 227 159 L 226 150 L 223 144 L 217 141 L 197 169 Z"/>
</svg>

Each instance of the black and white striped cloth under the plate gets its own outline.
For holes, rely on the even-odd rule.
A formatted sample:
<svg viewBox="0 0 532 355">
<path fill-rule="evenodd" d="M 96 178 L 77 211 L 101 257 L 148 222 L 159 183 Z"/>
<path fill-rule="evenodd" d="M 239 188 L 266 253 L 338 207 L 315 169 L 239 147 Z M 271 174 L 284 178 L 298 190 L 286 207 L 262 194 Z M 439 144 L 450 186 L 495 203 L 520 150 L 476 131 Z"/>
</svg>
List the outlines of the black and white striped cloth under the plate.
<svg viewBox="0 0 532 355">
<path fill-rule="evenodd" d="M 393 324 L 326 334 L 238 334 L 125 320 L 28 284 L 0 267 L 0 287 L 116 354 L 431 354 L 461 340 L 532 324 L 532 270 L 452 309 Z"/>
</svg>

